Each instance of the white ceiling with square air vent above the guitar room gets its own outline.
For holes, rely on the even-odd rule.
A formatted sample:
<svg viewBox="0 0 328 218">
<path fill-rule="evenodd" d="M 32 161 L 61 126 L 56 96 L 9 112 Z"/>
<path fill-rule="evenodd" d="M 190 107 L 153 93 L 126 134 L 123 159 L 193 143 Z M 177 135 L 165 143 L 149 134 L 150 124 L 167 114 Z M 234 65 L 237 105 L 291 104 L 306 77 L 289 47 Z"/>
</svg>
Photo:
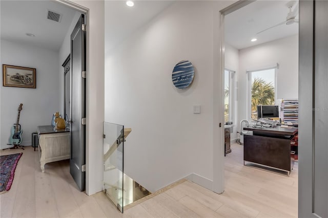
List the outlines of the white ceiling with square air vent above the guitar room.
<svg viewBox="0 0 328 218">
<path fill-rule="evenodd" d="M 1 39 L 60 49 L 72 23 L 73 9 L 52 1 L 0 1 Z M 62 15 L 60 23 L 47 19 L 47 9 Z M 27 36 L 32 33 L 35 37 Z"/>
</svg>

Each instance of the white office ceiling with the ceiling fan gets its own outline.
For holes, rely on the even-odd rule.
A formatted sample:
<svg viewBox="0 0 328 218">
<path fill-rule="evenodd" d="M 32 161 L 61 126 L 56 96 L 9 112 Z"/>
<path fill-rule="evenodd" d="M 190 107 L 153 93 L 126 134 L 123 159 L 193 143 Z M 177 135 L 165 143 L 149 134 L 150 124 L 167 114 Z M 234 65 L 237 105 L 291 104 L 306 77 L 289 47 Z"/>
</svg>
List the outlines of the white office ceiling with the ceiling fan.
<svg viewBox="0 0 328 218">
<path fill-rule="evenodd" d="M 256 35 L 256 33 L 286 20 L 289 12 L 286 6 L 288 2 L 290 1 L 256 1 L 226 15 L 224 18 L 226 42 L 236 49 L 244 49 L 297 34 L 298 24 L 294 23 L 280 25 Z M 297 2 L 293 9 L 296 4 Z M 257 38 L 257 41 L 251 42 L 254 37 Z"/>
</svg>

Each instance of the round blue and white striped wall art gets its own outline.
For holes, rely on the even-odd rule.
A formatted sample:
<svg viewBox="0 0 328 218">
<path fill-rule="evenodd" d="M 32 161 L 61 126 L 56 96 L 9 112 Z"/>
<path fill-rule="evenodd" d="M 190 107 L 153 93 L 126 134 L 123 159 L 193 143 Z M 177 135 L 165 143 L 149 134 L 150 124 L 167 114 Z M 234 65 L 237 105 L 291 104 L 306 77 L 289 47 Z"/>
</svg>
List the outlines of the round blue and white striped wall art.
<svg viewBox="0 0 328 218">
<path fill-rule="evenodd" d="M 178 89 L 187 88 L 194 79 L 194 67 L 189 60 L 182 60 L 176 64 L 172 72 L 172 82 Z"/>
</svg>

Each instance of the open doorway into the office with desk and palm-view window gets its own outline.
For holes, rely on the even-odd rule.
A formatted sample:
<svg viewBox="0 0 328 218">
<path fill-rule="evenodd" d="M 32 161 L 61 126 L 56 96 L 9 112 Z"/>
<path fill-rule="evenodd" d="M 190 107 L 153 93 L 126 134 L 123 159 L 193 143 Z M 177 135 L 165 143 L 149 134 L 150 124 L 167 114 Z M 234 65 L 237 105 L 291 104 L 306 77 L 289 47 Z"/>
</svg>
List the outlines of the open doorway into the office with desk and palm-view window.
<svg viewBox="0 0 328 218">
<path fill-rule="evenodd" d="M 224 192 L 275 205 L 278 216 L 297 216 L 298 1 L 237 2 L 221 11 L 220 26 L 225 136 L 230 132 L 224 137 L 225 145 L 230 144 L 229 152 L 225 146 Z M 235 72 L 232 81 L 228 72 Z M 227 88 L 234 92 L 229 98 Z M 258 106 L 279 108 L 278 115 L 259 122 Z M 271 135 L 285 129 L 293 133 Z M 271 143 L 272 153 L 265 143 Z M 280 143 L 288 149 L 279 150 Z M 286 162 L 277 165 L 281 160 Z"/>
</svg>

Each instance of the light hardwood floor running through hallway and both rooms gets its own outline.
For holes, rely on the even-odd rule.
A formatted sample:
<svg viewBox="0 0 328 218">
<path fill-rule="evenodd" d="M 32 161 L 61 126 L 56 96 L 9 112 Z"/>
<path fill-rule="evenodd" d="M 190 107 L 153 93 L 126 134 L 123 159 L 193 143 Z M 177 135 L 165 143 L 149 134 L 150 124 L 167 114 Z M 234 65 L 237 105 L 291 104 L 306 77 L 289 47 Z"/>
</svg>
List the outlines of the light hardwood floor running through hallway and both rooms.
<svg viewBox="0 0 328 218">
<path fill-rule="evenodd" d="M 23 153 L 11 189 L 0 195 L 1 217 L 297 217 L 297 165 L 290 177 L 243 166 L 238 144 L 225 158 L 224 193 L 187 181 L 124 214 L 102 192 L 88 197 L 78 191 L 67 160 L 46 164 L 42 173 L 37 151 Z"/>
</svg>

